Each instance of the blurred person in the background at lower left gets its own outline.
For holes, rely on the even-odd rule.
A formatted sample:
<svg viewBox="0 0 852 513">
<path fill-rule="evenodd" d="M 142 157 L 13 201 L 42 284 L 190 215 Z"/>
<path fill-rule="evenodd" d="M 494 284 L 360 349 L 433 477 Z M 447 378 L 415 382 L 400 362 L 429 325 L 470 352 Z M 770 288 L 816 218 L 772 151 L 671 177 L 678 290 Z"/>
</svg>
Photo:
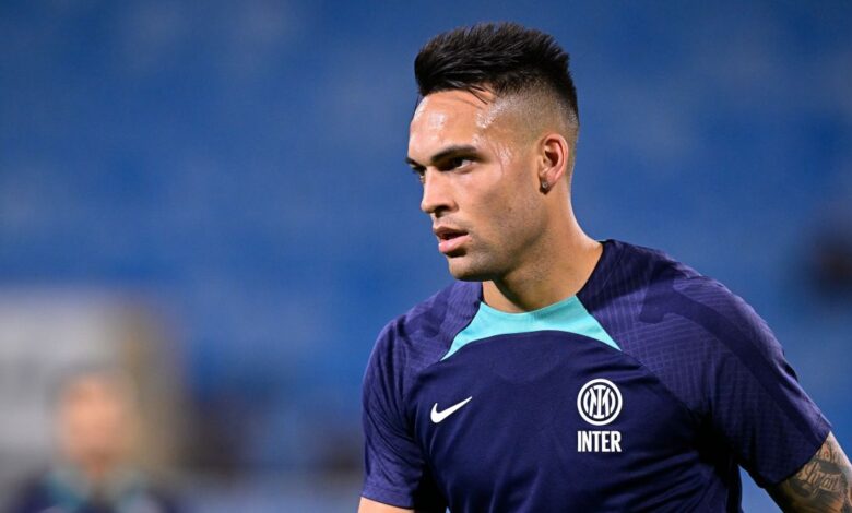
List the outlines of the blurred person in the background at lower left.
<svg viewBox="0 0 852 513">
<path fill-rule="evenodd" d="M 175 500 L 133 461 L 135 387 L 113 367 L 80 369 L 57 391 L 57 457 L 9 513 L 174 513 Z"/>
</svg>

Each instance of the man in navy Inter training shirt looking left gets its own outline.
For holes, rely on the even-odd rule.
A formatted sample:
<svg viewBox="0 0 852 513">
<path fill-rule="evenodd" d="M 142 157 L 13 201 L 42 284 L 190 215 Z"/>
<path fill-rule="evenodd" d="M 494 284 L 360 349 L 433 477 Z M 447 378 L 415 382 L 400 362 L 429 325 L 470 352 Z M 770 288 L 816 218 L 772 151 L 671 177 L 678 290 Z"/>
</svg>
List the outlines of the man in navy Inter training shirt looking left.
<svg viewBox="0 0 852 513">
<path fill-rule="evenodd" d="M 415 61 L 407 162 L 457 278 L 364 380 L 360 512 L 852 511 L 852 468 L 772 333 L 665 254 L 583 234 L 551 36 L 483 24 Z"/>
</svg>

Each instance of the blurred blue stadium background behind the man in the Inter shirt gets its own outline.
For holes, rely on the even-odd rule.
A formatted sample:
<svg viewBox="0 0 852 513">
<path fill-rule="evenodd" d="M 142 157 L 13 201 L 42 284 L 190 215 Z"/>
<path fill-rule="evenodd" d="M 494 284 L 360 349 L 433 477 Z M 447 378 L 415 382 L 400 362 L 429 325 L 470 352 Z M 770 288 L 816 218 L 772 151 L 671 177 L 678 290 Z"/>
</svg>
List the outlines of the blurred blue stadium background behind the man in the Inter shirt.
<svg viewBox="0 0 852 513">
<path fill-rule="evenodd" d="M 375 337 L 450 279 L 413 59 L 500 20 L 571 53 L 589 234 L 743 296 L 852 451 L 851 3 L 2 1 L 0 498 L 97 363 L 187 511 L 354 511 Z"/>
</svg>

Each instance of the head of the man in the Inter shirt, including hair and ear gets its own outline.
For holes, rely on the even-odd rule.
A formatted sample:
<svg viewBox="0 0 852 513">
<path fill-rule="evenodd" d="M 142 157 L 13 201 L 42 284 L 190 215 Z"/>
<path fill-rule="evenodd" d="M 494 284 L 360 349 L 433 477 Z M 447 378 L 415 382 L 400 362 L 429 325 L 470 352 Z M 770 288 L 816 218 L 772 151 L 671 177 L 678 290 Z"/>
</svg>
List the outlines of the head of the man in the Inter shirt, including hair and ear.
<svg viewBox="0 0 852 513">
<path fill-rule="evenodd" d="M 457 278 L 535 261 L 570 212 L 579 120 L 567 65 L 551 36 L 516 24 L 451 31 L 417 56 L 409 163 Z"/>
</svg>

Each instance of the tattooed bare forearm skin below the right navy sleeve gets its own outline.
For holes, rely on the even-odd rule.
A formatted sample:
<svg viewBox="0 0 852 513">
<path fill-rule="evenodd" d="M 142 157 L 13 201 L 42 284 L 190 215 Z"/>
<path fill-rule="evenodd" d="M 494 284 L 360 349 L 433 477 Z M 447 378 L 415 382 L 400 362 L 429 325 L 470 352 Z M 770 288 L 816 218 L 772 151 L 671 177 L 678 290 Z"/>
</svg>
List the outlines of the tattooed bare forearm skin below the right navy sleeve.
<svg viewBox="0 0 852 513">
<path fill-rule="evenodd" d="M 852 513 L 852 465 L 828 433 L 809 462 L 768 491 L 785 512 Z"/>
</svg>

